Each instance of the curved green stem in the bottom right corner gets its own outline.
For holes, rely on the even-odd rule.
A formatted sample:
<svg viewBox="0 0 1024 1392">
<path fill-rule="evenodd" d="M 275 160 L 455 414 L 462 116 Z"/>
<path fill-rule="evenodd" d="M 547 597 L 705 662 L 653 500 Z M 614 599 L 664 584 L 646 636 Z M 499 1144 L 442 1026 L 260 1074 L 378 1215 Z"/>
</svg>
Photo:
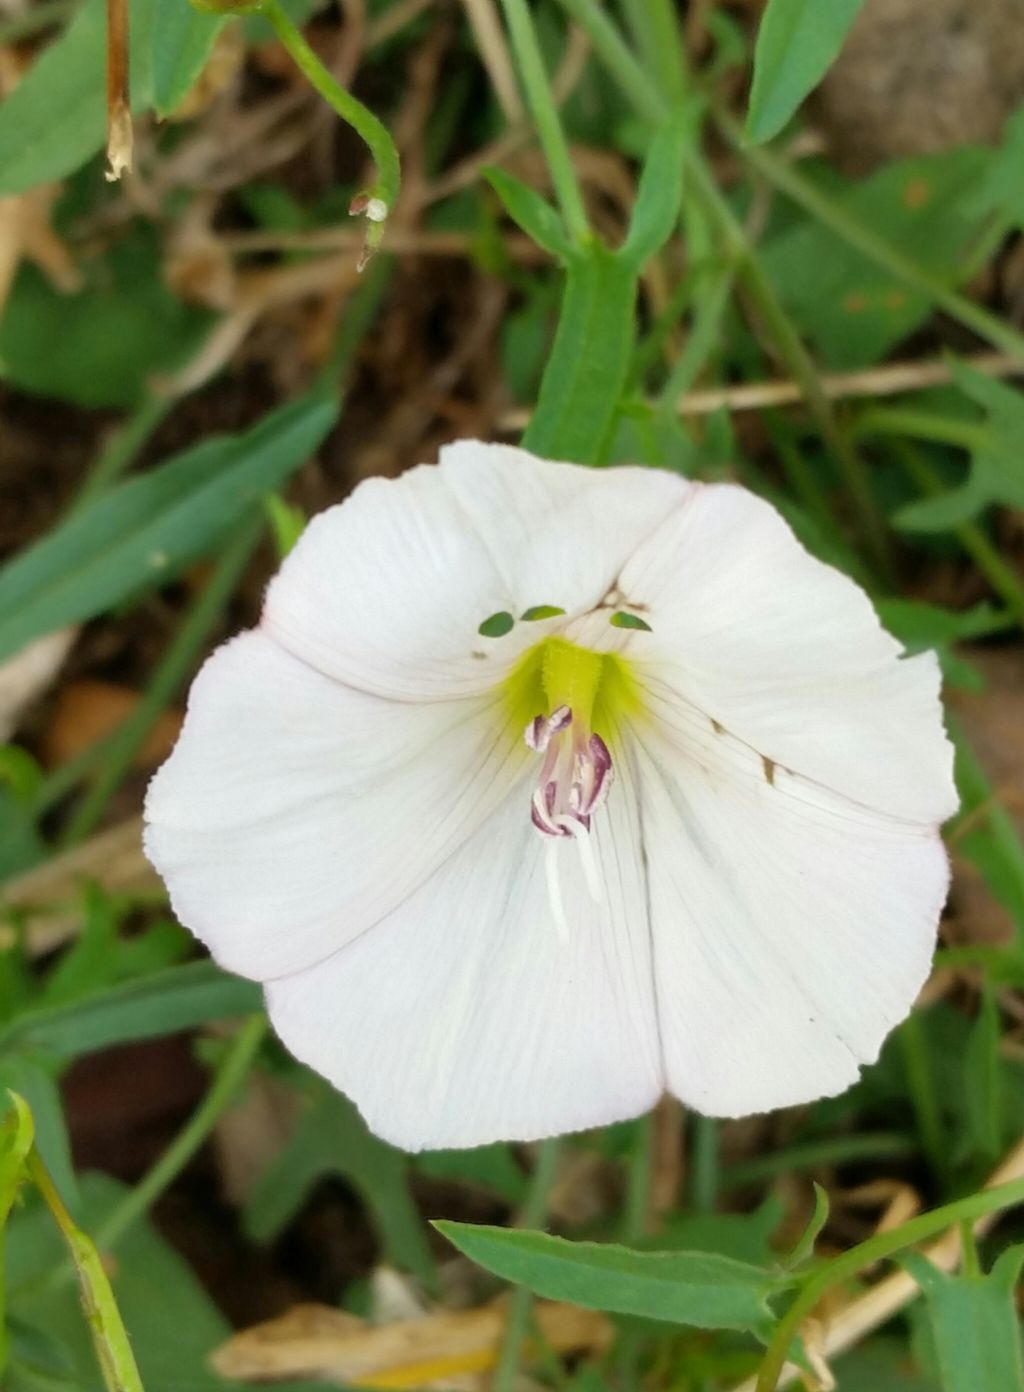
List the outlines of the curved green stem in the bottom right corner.
<svg viewBox="0 0 1024 1392">
<path fill-rule="evenodd" d="M 757 1377 L 757 1392 L 775 1392 L 800 1325 L 832 1286 L 856 1276 L 858 1271 L 872 1267 L 877 1261 L 883 1261 L 886 1257 L 903 1251 L 904 1247 L 913 1247 L 934 1237 L 953 1224 L 975 1222 L 978 1218 L 1000 1212 L 1003 1208 L 1011 1208 L 1020 1203 L 1024 1203 L 1024 1179 L 1014 1179 L 1009 1185 L 996 1185 L 993 1189 L 970 1194 L 967 1199 L 957 1199 L 929 1214 L 911 1218 L 910 1222 L 904 1222 L 890 1232 L 877 1233 L 811 1272 L 797 1292 L 793 1304 L 779 1321 L 768 1345 Z"/>
</svg>

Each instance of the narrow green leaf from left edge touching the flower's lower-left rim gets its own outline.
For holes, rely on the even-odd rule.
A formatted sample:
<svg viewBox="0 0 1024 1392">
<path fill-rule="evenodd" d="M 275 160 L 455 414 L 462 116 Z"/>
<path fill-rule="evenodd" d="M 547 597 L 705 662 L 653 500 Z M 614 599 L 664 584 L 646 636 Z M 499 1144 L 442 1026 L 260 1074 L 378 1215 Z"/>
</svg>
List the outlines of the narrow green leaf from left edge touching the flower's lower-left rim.
<svg viewBox="0 0 1024 1392">
<path fill-rule="evenodd" d="M 213 962 L 186 962 L 67 1005 L 26 1011 L 0 1030 L 0 1050 L 17 1044 L 78 1058 L 111 1044 L 249 1015 L 260 1005 L 252 981 L 228 976 Z"/>
</svg>

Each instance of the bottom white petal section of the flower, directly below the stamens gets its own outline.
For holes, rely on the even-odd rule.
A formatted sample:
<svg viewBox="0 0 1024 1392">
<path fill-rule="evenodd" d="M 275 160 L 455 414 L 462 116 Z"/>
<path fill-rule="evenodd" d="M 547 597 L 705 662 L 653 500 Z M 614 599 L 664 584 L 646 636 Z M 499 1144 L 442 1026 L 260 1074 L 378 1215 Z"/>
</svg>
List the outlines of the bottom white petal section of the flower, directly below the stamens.
<svg viewBox="0 0 1024 1392">
<path fill-rule="evenodd" d="M 661 1093 L 636 795 L 622 780 L 594 818 L 597 905 L 579 848 L 538 837 L 529 800 L 523 785 L 388 920 L 267 986 L 285 1045 L 406 1150 L 598 1126 Z"/>
</svg>

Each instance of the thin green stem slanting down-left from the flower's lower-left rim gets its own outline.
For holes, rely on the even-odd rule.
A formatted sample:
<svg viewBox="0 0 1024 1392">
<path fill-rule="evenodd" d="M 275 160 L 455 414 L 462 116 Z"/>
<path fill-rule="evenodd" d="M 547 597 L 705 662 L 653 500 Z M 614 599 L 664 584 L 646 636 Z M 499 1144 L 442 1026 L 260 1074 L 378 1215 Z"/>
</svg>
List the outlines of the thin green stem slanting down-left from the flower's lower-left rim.
<svg viewBox="0 0 1024 1392">
<path fill-rule="evenodd" d="M 217 1065 L 210 1090 L 199 1107 L 152 1169 L 142 1176 L 97 1229 L 96 1246 L 102 1251 L 117 1246 L 132 1224 L 138 1222 L 153 1207 L 160 1194 L 174 1183 L 200 1146 L 205 1144 L 221 1115 L 235 1101 L 266 1034 L 267 1019 L 264 1015 L 250 1016 L 235 1034 Z"/>
</svg>

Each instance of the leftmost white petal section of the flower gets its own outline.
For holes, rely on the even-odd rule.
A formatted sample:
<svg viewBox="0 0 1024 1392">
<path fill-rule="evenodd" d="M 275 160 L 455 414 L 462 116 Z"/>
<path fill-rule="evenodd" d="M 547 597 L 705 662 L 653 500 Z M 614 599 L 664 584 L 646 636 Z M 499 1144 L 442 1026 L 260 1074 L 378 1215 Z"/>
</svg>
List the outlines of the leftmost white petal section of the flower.
<svg viewBox="0 0 1024 1392">
<path fill-rule="evenodd" d="M 381 700 L 243 633 L 192 686 L 146 798 L 146 853 L 181 922 L 262 980 L 390 913 L 529 759 L 495 704 Z"/>
</svg>

